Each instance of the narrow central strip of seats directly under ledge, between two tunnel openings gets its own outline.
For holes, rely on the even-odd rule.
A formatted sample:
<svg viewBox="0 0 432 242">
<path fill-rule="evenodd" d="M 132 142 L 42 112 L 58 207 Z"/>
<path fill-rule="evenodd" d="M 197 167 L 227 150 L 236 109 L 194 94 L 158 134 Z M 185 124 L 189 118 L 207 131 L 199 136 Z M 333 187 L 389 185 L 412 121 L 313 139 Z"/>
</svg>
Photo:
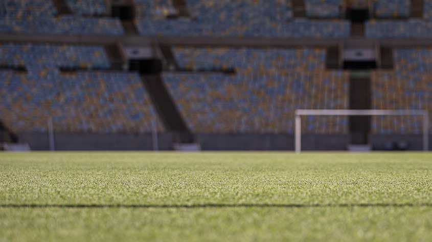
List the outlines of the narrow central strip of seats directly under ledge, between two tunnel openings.
<svg viewBox="0 0 432 242">
<path fill-rule="evenodd" d="M 173 49 L 181 68 L 195 70 L 236 69 L 268 73 L 274 70 L 314 71 L 325 68 L 325 49 L 185 48 Z M 303 61 L 299 61 L 303 60 Z"/>
</svg>

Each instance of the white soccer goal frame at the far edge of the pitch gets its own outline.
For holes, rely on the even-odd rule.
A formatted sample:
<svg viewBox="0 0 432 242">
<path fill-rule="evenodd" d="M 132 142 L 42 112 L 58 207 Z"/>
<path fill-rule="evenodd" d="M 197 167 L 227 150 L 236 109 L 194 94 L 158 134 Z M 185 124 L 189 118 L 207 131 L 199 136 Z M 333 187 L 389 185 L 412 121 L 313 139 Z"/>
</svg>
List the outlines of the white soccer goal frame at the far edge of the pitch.
<svg viewBox="0 0 432 242">
<path fill-rule="evenodd" d="M 295 152 L 302 150 L 302 116 L 422 116 L 423 117 L 423 151 L 429 149 L 429 117 L 426 110 L 295 110 Z"/>
</svg>

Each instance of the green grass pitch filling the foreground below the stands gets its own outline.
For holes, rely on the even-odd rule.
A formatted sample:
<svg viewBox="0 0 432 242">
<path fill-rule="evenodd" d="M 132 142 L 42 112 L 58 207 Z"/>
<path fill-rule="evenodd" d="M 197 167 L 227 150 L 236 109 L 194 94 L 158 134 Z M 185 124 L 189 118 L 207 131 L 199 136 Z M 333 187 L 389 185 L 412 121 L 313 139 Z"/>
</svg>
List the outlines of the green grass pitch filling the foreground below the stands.
<svg viewBox="0 0 432 242">
<path fill-rule="evenodd" d="M 0 153 L 0 241 L 430 241 L 432 153 Z"/>
</svg>

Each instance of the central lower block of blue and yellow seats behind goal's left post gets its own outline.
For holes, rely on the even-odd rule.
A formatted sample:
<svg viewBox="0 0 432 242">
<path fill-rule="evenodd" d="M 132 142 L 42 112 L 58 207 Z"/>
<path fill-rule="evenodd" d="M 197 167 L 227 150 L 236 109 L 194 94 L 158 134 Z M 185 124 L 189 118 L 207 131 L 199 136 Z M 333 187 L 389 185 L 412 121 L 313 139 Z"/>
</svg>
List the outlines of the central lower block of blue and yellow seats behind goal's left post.
<svg viewBox="0 0 432 242">
<path fill-rule="evenodd" d="M 193 132 L 292 133 L 296 109 L 346 109 L 344 72 L 165 74 Z M 305 132 L 346 133 L 346 117 L 308 117 Z"/>
</svg>

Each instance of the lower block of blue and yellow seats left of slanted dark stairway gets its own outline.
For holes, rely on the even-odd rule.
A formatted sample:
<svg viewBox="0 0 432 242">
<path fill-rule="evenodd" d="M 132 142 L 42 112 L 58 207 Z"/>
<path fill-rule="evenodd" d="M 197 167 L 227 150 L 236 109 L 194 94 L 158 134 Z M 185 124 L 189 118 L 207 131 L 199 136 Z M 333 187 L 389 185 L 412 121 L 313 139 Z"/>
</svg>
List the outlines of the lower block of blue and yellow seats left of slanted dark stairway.
<svg viewBox="0 0 432 242">
<path fill-rule="evenodd" d="M 149 132 L 155 111 L 138 74 L 0 71 L 0 116 L 14 132 Z M 160 123 L 160 122 L 158 122 Z M 158 130 L 162 126 L 158 125 Z"/>
</svg>

